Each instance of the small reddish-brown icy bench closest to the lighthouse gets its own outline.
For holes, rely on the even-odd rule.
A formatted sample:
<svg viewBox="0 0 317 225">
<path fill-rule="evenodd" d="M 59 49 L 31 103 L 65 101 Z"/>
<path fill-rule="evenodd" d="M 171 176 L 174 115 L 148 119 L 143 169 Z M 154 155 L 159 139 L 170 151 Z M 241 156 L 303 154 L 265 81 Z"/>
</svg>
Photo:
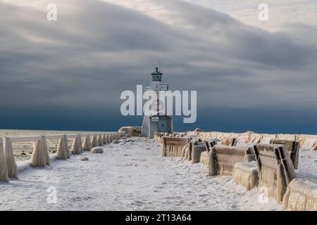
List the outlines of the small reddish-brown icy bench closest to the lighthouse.
<svg viewBox="0 0 317 225">
<path fill-rule="evenodd" d="M 182 150 L 189 142 L 189 138 L 163 136 L 162 155 L 166 157 L 182 157 Z"/>
</svg>

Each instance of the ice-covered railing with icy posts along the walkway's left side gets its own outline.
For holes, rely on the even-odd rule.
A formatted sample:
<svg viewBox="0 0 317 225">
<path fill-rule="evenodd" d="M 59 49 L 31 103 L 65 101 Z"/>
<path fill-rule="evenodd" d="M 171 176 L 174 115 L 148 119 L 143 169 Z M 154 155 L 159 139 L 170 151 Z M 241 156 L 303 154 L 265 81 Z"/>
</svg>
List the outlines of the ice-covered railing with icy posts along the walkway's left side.
<svg viewBox="0 0 317 225">
<path fill-rule="evenodd" d="M 111 143 L 120 139 L 125 132 L 105 132 L 95 134 L 60 134 L 42 136 L 17 136 L 0 137 L 0 181 L 8 181 L 8 177 L 18 179 L 18 167 L 13 154 L 12 143 L 32 142 L 33 150 L 30 165 L 33 167 L 44 167 L 51 165 L 51 158 L 47 149 L 47 140 L 58 140 L 56 158 L 67 160 L 70 155 L 81 154 L 84 150 L 91 150 L 97 146 Z M 73 140 L 71 148 L 68 139 Z"/>
</svg>

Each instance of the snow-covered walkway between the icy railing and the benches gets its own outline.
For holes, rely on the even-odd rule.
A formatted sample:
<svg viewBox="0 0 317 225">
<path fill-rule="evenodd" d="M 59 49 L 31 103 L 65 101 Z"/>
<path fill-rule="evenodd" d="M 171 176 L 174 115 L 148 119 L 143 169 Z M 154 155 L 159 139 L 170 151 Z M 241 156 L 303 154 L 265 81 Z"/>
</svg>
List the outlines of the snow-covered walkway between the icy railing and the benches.
<svg viewBox="0 0 317 225">
<path fill-rule="evenodd" d="M 135 138 L 104 146 L 104 154 L 73 155 L 30 168 L 0 183 L 0 210 L 281 210 L 275 200 L 244 191 L 230 176 L 208 176 L 201 164 L 161 157 L 156 141 Z M 303 153 L 303 154 L 302 154 Z M 316 180 L 317 153 L 302 152 L 299 176 Z M 89 161 L 80 161 L 87 156 Z M 49 187 L 57 203 L 47 202 Z M 52 189 L 49 189 L 52 190 Z"/>
</svg>

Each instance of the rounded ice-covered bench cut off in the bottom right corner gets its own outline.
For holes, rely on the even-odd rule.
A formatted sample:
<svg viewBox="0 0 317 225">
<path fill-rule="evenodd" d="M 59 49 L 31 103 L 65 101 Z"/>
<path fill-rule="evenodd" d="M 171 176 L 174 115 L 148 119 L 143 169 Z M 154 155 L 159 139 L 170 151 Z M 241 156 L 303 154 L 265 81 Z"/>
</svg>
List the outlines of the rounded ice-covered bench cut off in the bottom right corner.
<svg viewBox="0 0 317 225">
<path fill-rule="evenodd" d="M 316 181 L 293 179 L 283 198 L 284 210 L 317 211 Z"/>
</svg>

